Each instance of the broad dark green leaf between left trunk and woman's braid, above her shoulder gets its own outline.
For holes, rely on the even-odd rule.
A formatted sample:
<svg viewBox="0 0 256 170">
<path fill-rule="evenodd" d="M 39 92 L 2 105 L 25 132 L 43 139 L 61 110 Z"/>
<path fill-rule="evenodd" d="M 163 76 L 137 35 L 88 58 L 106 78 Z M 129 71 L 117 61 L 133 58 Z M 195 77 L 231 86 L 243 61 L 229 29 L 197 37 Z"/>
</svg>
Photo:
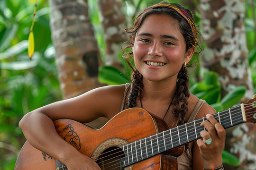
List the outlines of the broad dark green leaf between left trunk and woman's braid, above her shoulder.
<svg viewBox="0 0 256 170">
<path fill-rule="evenodd" d="M 101 83 L 107 85 L 122 85 L 129 82 L 118 68 L 112 66 L 101 67 L 98 78 Z"/>
</svg>

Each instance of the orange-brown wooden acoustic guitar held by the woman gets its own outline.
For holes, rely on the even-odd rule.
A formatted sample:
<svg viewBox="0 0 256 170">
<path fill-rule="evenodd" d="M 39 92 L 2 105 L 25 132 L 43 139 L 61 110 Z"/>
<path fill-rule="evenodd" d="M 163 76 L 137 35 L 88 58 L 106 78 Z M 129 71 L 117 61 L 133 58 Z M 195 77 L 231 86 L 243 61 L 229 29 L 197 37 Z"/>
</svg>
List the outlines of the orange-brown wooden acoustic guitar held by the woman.
<svg viewBox="0 0 256 170">
<path fill-rule="evenodd" d="M 214 113 L 224 127 L 256 122 L 256 95 L 246 104 Z M 59 119 L 57 133 L 80 153 L 96 161 L 102 170 L 177 170 L 177 156 L 184 144 L 201 138 L 200 124 L 205 117 L 169 128 L 163 119 L 141 108 L 124 110 L 100 129 Z M 22 147 L 15 170 L 67 170 L 60 161 L 43 153 L 28 142 Z"/>
</svg>

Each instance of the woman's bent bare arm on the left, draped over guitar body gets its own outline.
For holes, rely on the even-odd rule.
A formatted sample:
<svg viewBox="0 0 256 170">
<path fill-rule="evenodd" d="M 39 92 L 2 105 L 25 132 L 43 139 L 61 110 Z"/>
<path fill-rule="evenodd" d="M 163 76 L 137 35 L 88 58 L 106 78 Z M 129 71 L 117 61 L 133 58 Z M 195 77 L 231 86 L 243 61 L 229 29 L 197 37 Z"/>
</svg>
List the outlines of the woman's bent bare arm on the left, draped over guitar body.
<svg viewBox="0 0 256 170">
<path fill-rule="evenodd" d="M 100 170 L 94 161 L 79 153 L 57 134 L 53 121 L 65 118 L 87 123 L 101 116 L 110 119 L 119 112 L 123 93 L 124 85 L 94 89 L 27 113 L 20 120 L 19 127 L 32 146 L 63 162 L 69 170 L 75 166 Z"/>
</svg>

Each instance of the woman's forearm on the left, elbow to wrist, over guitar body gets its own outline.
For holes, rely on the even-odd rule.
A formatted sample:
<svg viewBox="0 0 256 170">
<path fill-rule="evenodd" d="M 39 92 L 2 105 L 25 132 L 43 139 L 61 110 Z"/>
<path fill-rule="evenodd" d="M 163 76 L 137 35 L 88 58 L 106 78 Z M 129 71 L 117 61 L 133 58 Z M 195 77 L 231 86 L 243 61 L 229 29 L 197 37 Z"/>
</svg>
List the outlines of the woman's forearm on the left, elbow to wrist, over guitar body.
<svg viewBox="0 0 256 170">
<path fill-rule="evenodd" d="M 63 163 L 67 161 L 67 153 L 78 153 L 57 134 L 53 121 L 43 113 L 28 113 L 20 120 L 19 127 L 29 144 Z"/>
</svg>

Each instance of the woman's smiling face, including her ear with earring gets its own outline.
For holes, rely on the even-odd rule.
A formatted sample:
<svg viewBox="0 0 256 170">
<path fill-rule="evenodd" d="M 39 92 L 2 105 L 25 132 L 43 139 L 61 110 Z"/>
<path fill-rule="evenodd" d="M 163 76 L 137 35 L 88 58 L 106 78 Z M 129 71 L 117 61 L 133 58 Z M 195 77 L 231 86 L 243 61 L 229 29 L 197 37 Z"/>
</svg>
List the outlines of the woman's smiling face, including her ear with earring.
<svg viewBox="0 0 256 170">
<path fill-rule="evenodd" d="M 136 68 L 149 81 L 177 79 L 183 63 L 194 48 L 186 52 L 179 24 L 167 15 L 150 15 L 138 29 L 133 46 Z"/>
</svg>

